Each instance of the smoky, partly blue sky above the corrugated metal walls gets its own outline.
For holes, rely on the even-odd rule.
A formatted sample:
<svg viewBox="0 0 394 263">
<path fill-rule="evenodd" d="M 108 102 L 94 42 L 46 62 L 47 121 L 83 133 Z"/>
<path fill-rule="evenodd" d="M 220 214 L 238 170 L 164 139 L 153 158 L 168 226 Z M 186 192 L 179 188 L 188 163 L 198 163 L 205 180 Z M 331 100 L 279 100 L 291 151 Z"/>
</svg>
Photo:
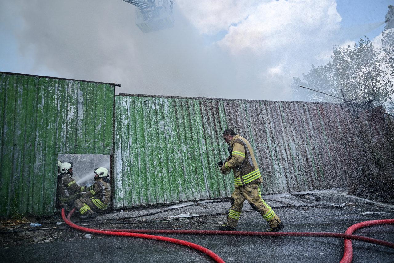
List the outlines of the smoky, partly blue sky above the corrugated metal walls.
<svg viewBox="0 0 394 263">
<path fill-rule="evenodd" d="M 379 36 L 384 24 L 371 27 L 389 4 L 177 0 L 174 28 L 145 34 L 120 0 L 0 0 L 0 71 L 120 83 L 127 93 L 240 98 L 242 86 L 245 99 L 292 100 L 292 77 L 327 63 L 333 45 Z"/>
</svg>

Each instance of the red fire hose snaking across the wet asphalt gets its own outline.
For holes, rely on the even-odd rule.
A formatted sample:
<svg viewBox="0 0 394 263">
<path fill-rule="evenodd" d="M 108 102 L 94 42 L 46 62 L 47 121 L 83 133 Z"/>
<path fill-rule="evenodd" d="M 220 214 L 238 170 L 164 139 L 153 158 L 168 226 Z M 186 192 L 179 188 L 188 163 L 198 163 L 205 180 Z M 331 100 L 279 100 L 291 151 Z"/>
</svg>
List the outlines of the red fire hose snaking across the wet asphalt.
<svg viewBox="0 0 394 263">
<path fill-rule="evenodd" d="M 211 250 L 204 248 L 203 246 L 180 240 L 180 239 L 173 239 L 170 237 L 162 237 L 162 236 L 155 236 L 155 235 L 147 235 L 149 234 L 191 234 L 191 235 L 243 235 L 243 236 L 271 236 L 271 237 L 333 237 L 333 238 L 341 238 L 345 239 L 345 250 L 344 256 L 341 263 L 350 263 L 353 258 L 353 249 L 351 246 L 351 240 L 359 240 L 364 241 L 372 244 L 378 244 L 381 246 L 387 246 L 389 248 L 394 248 L 394 243 L 387 242 L 384 240 L 373 239 L 369 237 L 363 237 L 359 235 L 353 235 L 352 233 L 357 229 L 366 226 L 372 225 L 382 225 L 382 224 L 394 224 L 394 219 L 383 219 L 383 220 L 373 220 L 373 221 L 366 221 L 361 222 L 346 230 L 346 233 L 326 233 L 326 232 L 256 232 L 256 231 L 216 231 L 216 230 L 159 230 L 159 229 L 94 229 L 88 227 L 82 227 L 80 225 L 76 225 L 71 222 L 71 216 L 74 213 L 75 208 L 71 210 L 68 214 L 67 218 L 65 216 L 65 210 L 61 209 L 61 217 L 63 218 L 64 222 L 70 227 L 88 232 L 88 233 L 96 233 L 96 234 L 103 234 L 103 235 L 115 235 L 115 236 L 123 236 L 123 237 L 136 237 L 142 239 L 154 239 L 160 241 L 171 242 L 175 244 L 180 244 L 182 246 L 188 246 L 190 248 L 194 248 L 195 250 L 201 251 L 204 254 L 211 257 L 215 262 L 224 263 L 223 259 L 216 255 Z"/>
</svg>

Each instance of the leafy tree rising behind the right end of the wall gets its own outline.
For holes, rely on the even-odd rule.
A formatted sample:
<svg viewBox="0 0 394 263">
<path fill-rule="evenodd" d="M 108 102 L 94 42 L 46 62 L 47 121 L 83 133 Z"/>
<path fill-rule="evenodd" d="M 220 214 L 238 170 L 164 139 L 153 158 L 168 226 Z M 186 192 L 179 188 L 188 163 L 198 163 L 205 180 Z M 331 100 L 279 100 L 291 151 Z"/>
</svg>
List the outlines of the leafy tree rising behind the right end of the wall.
<svg viewBox="0 0 394 263">
<path fill-rule="evenodd" d="M 383 32 L 382 48 L 373 46 L 364 36 L 353 47 L 335 46 L 332 61 L 312 68 L 303 74 L 303 81 L 294 78 L 292 88 L 297 100 L 340 102 L 340 100 L 299 88 L 307 86 L 346 99 L 357 98 L 358 103 L 372 101 L 387 112 L 394 111 L 394 31 Z"/>
</svg>

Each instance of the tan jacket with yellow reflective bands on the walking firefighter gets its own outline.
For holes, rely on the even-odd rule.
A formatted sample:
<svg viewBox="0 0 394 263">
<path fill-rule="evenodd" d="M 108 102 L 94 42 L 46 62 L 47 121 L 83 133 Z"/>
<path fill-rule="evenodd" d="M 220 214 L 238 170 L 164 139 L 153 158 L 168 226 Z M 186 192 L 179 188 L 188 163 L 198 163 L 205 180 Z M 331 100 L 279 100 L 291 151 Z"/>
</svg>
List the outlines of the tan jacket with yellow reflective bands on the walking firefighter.
<svg viewBox="0 0 394 263">
<path fill-rule="evenodd" d="M 232 148 L 232 158 L 223 164 L 222 173 L 228 174 L 231 169 L 233 170 L 235 187 L 262 182 L 255 154 L 249 141 L 237 134 L 229 145 Z"/>
</svg>

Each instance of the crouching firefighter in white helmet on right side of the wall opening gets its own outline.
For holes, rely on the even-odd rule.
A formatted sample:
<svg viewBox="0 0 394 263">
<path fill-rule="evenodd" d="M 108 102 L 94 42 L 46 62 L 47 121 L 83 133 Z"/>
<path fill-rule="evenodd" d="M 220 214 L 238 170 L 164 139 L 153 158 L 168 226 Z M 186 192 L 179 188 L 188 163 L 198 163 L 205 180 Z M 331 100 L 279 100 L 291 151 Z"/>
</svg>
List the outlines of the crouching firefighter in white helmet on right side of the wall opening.
<svg viewBox="0 0 394 263">
<path fill-rule="evenodd" d="M 103 212 L 110 203 L 110 180 L 108 170 L 104 167 L 95 169 L 95 183 L 89 186 L 88 191 L 80 199 L 75 200 L 75 209 L 79 210 L 82 218 L 95 217 Z"/>
</svg>

